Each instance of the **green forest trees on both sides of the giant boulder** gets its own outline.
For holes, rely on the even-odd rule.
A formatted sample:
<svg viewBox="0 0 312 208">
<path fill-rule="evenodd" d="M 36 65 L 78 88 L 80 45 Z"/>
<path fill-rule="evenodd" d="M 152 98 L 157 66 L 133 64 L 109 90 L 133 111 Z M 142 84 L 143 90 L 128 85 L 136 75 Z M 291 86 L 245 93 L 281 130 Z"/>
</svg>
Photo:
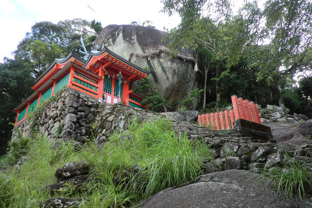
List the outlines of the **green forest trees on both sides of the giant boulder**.
<svg viewBox="0 0 312 208">
<path fill-rule="evenodd" d="M 172 56 L 178 48 L 192 48 L 196 55 L 203 89 L 197 110 L 226 106 L 235 94 L 312 117 L 310 0 L 267 0 L 264 5 L 245 1 L 237 14 L 230 0 L 161 2 L 162 12 L 181 18 L 176 28 L 166 31 Z M 101 29 L 100 22 L 83 19 L 32 26 L 13 52 L 14 58 L 0 63 L 1 144 L 10 137 L 14 108 L 32 93 L 36 77 L 54 58 L 82 50 L 80 37 L 90 50 Z"/>
</svg>

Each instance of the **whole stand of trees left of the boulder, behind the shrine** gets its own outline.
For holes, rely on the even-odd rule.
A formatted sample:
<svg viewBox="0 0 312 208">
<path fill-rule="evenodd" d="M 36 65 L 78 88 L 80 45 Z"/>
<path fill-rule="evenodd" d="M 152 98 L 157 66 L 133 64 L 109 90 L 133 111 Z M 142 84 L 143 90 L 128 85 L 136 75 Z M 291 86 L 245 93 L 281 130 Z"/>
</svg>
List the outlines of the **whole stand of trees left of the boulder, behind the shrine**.
<svg viewBox="0 0 312 208">
<path fill-rule="evenodd" d="M 33 93 L 31 86 L 55 58 L 67 56 L 71 51 L 79 54 L 80 37 L 88 51 L 102 30 L 100 22 L 84 19 L 38 22 L 20 41 L 14 58 L 0 63 L 0 154 L 10 139 L 16 113 L 13 110 Z"/>
</svg>

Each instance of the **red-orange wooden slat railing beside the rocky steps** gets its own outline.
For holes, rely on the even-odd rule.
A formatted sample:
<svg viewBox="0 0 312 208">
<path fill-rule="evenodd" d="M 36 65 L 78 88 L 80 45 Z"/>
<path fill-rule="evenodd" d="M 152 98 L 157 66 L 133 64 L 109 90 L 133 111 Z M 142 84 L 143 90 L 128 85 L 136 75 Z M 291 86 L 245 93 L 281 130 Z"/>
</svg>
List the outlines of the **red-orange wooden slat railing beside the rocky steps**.
<svg viewBox="0 0 312 208">
<path fill-rule="evenodd" d="M 199 126 L 211 127 L 214 130 L 232 129 L 234 121 L 238 118 L 261 124 L 257 105 L 253 101 L 237 98 L 236 95 L 232 95 L 231 98 L 233 109 L 198 115 Z"/>
</svg>

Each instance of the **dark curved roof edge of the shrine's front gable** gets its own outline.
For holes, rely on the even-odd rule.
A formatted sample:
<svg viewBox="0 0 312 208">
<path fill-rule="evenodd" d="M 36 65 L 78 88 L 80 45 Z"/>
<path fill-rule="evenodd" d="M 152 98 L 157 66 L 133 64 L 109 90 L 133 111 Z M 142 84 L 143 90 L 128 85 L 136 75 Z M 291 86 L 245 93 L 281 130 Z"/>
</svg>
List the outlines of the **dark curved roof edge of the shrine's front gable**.
<svg viewBox="0 0 312 208">
<path fill-rule="evenodd" d="M 132 68 L 134 68 L 135 70 L 139 71 L 140 73 L 142 73 L 144 75 L 149 75 L 150 74 L 149 71 L 146 71 L 146 70 L 142 69 L 141 67 L 138 67 L 136 64 L 131 63 L 130 61 L 126 60 L 123 57 L 120 57 L 119 55 L 115 54 L 114 52 L 112 52 L 111 50 L 109 50 L 106 47 L 104 47 L 104 49 L 99 51 L 98 53 L 90 52 L 89 53 L 89 58 L 86 60 L 85 64 L 82 67 L 85 68 L 85 67 L 88 67 L 88 66 L 92 65 L 93 63 L 90 63 L 90 61 L 96 61 L 95 57 L 100 57 L 104 53 L 108 53 L 111 57 L 114 57 L 118 61 L 123 62 L 126 65 L 131 66 Z"/>
</svg>

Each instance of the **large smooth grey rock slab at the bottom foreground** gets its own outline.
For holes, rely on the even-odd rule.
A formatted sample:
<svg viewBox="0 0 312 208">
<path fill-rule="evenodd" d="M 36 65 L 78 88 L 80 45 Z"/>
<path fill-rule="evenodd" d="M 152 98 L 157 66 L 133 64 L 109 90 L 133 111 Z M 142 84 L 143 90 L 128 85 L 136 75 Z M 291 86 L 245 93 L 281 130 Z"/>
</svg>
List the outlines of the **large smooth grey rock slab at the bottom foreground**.
<svg viewBox="0 0 312 208">
<path fill-rule="evenodd" d="M 286 208 L 296 207 L 264 182 L 255 184 L 258 174 L 246 170 L 225 170 L 201 175 L 196 182 L 165 189 L 146 199 L 143 208 Z"/>
</svg>

